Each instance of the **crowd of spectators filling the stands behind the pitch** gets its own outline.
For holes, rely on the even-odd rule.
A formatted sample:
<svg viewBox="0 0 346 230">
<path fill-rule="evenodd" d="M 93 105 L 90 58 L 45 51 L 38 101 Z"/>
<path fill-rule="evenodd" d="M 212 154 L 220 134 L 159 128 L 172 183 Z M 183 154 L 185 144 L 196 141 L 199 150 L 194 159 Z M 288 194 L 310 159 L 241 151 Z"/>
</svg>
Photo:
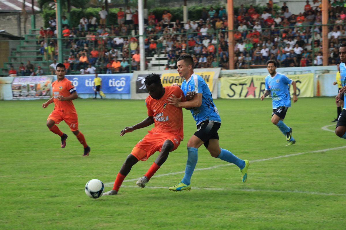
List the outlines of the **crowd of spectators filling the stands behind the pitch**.
<svg viewBox="0 0 346 230">
<path fill-rule="evenodd" d="M 343 26 L 346 19 L 346 3 L 329 2 L 328 64 L 339 62 L 337 45 L 346 41 Z M 277 8 L 276 8 L 277 9 Z M 119 8 L 117 23 L 106 26 L 107 11 L 102 8 L 99 20 L 83 17 L 78 25 L 70 25 L 62 18 L 64 49 L 69 50 L 69 72 L 93 73 L 95 67 L 103 73 L 117 73 L 139 68 L 138 11 L 130 7 Z M 198 21 L 171 21 L 172 14 L 165 10 L 162 20 L 153 12 L 145 18 L 144 49 L 146 66 L 151 57 L 158 54 L 167 57 L 165 69 L 174 69 L 176 59 L 184 53 L 192 55 L 195 68 L 229 67 L 227 12 L 203 8 Z M 49 27 L 41 28 L 38 35 L 40 54 L 45 60 L 57 59 L 56 21 L 50 18 Z M 334 25 L 333 25 L 334 24 Z M 235 69 L 263 65 L 269 59 L 279 67 L 304 67 L 322 65 L 321 2 L 314 0 L 301 12 L 290 12 L 286 2 L 279 10 L 273 10 L 269 0 L 262 12 L 243 4 L 234 14 L 234 63 Z M 53 38 L 53 39 L 52 39 Z M 155 55 L 156 56 L 156 55 Z M 19 74 L 32 74 L 27 68 Z M 17 73 L 18 74 L 18 73 Z"/>
</svg>

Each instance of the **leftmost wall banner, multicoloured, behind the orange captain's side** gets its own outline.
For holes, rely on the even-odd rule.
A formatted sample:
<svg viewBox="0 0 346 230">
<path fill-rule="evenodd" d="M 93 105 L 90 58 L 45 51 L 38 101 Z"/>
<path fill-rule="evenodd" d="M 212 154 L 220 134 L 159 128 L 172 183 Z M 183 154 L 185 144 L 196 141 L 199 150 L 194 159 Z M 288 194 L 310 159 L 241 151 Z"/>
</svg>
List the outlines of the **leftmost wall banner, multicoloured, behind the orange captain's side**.
<svg viewBox="0 0 346 230">
<path fill-rule="evenodd" d="M 12 81 L 13 100 L 50 98 L 53 76 L 15 77 Z"/>
</svg>

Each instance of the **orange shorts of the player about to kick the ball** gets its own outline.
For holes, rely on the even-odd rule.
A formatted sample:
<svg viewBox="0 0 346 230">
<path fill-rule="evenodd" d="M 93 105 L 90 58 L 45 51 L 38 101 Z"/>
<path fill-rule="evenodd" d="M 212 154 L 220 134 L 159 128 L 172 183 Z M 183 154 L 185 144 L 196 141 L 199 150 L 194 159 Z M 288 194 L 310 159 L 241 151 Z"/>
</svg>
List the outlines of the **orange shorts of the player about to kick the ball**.
<svg viewBox="0 0 346 230">
<path fill-rule="evenodd" d="M 140 140 L 131 151 L 131 154 L 138 160 L 146 161 L 157 151 L 161 151 L 162 145 L 166 140 L 171 140 L 174 144 L 174 151 L 180 144 L 180 137 L 172 133 L 148 133 Z"/>
</svg>

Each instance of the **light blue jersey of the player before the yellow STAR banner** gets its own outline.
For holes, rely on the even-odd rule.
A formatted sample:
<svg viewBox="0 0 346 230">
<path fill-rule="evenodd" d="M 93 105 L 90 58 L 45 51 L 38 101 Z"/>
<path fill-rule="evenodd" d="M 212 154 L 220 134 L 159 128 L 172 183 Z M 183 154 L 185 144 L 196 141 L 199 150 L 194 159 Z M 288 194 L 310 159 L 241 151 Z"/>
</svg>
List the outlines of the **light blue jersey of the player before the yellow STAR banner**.
<svg viewBox="0 0 346 230">
<path fill-rule="evenodd" d="M 271 91 L 273 100 L 273 109 L 280 106 L 291 107 L 290 84 L 292 79 L 286 77 L 285 74 L 276 72 L 274 77 L 270 74 L 265 77 L 265 90 Z"/>
</svg>

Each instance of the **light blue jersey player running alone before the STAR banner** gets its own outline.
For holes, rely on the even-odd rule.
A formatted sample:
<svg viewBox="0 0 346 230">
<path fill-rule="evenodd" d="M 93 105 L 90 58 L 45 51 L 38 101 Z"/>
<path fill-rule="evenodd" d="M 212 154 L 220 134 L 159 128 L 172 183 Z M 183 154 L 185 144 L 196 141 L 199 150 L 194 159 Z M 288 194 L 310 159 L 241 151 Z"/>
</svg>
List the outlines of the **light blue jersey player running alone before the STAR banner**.
<svg viewBox="0 0 346 230">
<path fill-rule="evenodd" d="M 261 96 L 261 101 L 271 94 L 273 100 L 273 113 L 272 122 L 280 131 L 286 136 L 288 144 L 290 146 L 295 143 L 292 137 L 292 128 L 286 126 L 283 122 L 285 119 L 286 112 L 289 107 L 291 107 L 291 94 L 290 94 L 290 84 L 293 86 L 293 102 L 297 102 L 297 85 L 295 81 L 286 77 L 286 75 L 276 72 L 276 61 L 267 61 L 267 70 L 269 75 L 265 77 L 265 92 Z"/>
</svg>

